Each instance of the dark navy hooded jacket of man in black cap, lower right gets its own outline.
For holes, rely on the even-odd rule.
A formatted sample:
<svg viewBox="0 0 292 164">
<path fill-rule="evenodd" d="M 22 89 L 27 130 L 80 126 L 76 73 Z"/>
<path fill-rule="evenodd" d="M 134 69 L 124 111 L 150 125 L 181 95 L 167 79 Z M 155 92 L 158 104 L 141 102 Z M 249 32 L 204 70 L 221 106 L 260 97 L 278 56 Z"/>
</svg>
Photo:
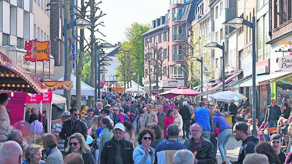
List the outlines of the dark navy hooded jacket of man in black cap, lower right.
<svg viewBox="0 0 292 164">
<path fill-rule="evenodd" d="M 249 136 L 244 141 L 242 141 L 236 164 L 242 164 L 246 154 L 255 153 L 254 148 L 258 144 L 258 142 L 259 142 L 258 137 L 255 137 L 253 135 Z"/>
</svg>

